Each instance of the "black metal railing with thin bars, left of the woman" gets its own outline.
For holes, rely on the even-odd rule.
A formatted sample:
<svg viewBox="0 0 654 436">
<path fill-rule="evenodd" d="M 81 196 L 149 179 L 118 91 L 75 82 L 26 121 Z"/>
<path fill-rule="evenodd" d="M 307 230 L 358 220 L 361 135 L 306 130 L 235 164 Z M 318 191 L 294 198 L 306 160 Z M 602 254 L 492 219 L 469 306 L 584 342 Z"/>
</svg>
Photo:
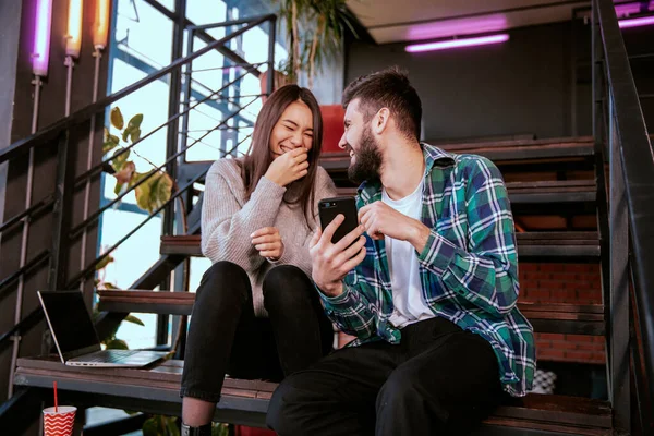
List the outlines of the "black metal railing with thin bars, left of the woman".
<svg viewBox="0 0 654 436">
<path fill-rule="evenodd" d="M 175 190 L 175 192 L 171 195 L 171 197 L 166 203 L 164 203 L 162 205 L 157 207 L 155 210 L 153 210 L 134 229 L 128 231 L 123 238 L 121 238 L 109 250 L 105 251 L 105 253 L 102 255 L 100 255 L 99 257 L 97 257 L 96 259 L 94 259 L 93 262 L 87 264 L 84 268 L 81 268 L 81 270 L 77 274 L 73 275 L 72 278 L 66 277 L 65 268 L 64 268 L 64 265 L 65 265 L 64 258 L 69 255 L 68 250 L 70 247 L 71 241 L 75 237 L 78 237 L 81 233 L 86 232 L 89 227 L 95 226 L 97 220 L 99 219 L 99 217 L 101 216 L 101 214 L 104 211 L 108 210 L 111 206 L 118 204 L 126 194 L 129 194 L 130 192 L 133 192 L 140 184 L 145 182 L 146 178 L 144 178 L 143 180 L 140 180 L 137 183 L 131 185 L 129 187 L 129 190 L 124 193 L 121 193 L 121 195 L 118 198 L 113 199 L 112 202 L 110 202 L 107 205 L 101 206 L 98 210 L 89 214 L 87 217 L 84 217 L 84 219 L 82 220 L 81 223 L 73 227 L 71 223 L 72 214 L 73 214 L 71 198 L 72 198 L 72 193 L 74 192 L 74 190 L 80 186 L 83 186 L 85 183 L 87 183 L 88 180 L 90 180 L 94 177 L 97 177 L 102 171 L 106 171 L 107 168 L 109 168 L 109 162 L 111 161 L 111 159 L 114 159 L 118 155 L 128 153 L 129 149 L 133 148 L 135 145 L 142 143 L 147 137 L 152 136 L 155 132 L 157 132 L 164 128 L 167 128 L 167 126 L 170 128 L 173 125 L 177 128 L 175 123 L 179 122 L 180 118 L 182 118 L 182 117 L 187 118 L 189 113 L 192 112 L 193 110 L 196 110 L 197 106 L 199 106 L 213 98 L 222 97 L 221 93 L 226 92 L 230 86 L 233 86 L 234 84 L 239 83 L 239 81 L 241 81 L 245 75 L 254 74 L 255 76 L 258 77 L 261 74 L 261 71 L 257 70 L 257 66 L 265 64 L 265 65 L 267 65 L 269 71 L 274 70 L 274 59 L 275 59 L 274 58 L 274 46 L 275 46 L 274 35 L 275 35 L 276 20 L 277 20 L 276 15 L 269 14 L 269 15 L 263 15 L 263 16 L 252 17 L 252 19 L 247 19 L 247 20 L 239 20 L 239 21 L 234 21 L 234 22 L 221 23 L 221 25 L 231 26 L 231 32 L 229 32 L 225 37 L 222 37 L 220 39 L 214 39 L 213 37 L 208 36 L 208 34 L 206 34 L 206 32 L 204 29 L 193 27 L 193 33 L 195 35 L 199 34 L 199 36 L 203 37 L 203 40 L 205 40 L 207 43 L 206 46 L 203 47 L 202 49 L 198 49 L 198 50 L 192 51 L 192 52 L 190 51 L 185 57 L 174 60 L 172 63 L 170 63 L 170 65 L 154 72 L 153 74 L 134 83 L 133 85 L 130 85 L 130 86 L 125 87 L 124 89 L 121 89 L 120 92 L 114 93 L 110 96 L 101 98 L 98 101 L 96 101 L 92 105 L 88 105 L 88 106 L 84 107 L 83 109 L 80 109 L 78 111 L 72 113 L 71 116 L 51 124 L 51 125 L 46 126 L 45 129 L 36 132 L 35 134 L 33 134 L 28 137 L 25 137 L 21 141 L 17 141 L 14 144 L 11 144 L 9 147 L 4 148 L 3 150 L 0 150 L 0 164 L 2 164 L 5 161 L 11 162 L 13 159 L 20 158 L 24 154 L 28 153 L 31 149 L 37 149 L 37 148 L 40 148 L 40 147 L 44 147 L 47 145 L 51 145 L 53 142 L 56 142 L 58 144 L 58 155 L 57 155 L 58 173 L 57 173 L 57 187 L 56 187 L 55 192 L 52 194 L 47 195 L 45 198 L 33 202 L 33 204 L 28 208 L 26 208 L 22 213 L 14 215 L 9 220 L 7 220 L 4 222 L 0 222 L 0 234 L 1 234 L 4 231 L 13 230 L 16 226 L 19 226 L 22 222 L 26 222 L 26 221 L 33 219 L 38 214 L 44 214 L 45 211 L 52 210 L 53 217 L 55 217 L 55 225 L 53 225 L 53 229 L 52 229 L 51 246 L 48 250 L 45 250 L 45 251 L 40 252 L 39 254 L 37 254 L 36 256 L 32 257 L 28 262 L 25 263 L 25 265 L 23 267 L 19 268 L 15 271 L 12 271 L 8 277 L 0 279 L 0 296 L 3 296 L 3 294 L 8 292 L 10 287 L 17 279 L 24 277 L 24 275 L 26 275 L 31 270 L 35 269 L 36 267 L 41 266 L 47 259 L 49 259 L 49 262 L 50 262 L 49 275 L 48 275 L 48 289 L 58 290 L 58 289 L 74 288 L 76 284 L 80 283 L 80 281 L 83 281 L 83 280 L 87 279 L 90 275 L 93 275 L 96 266 L 105 257 L 107 257 L 112 251 L 114 251 L 124 241 L 126 241 L 131 235 L 133 235 L 136 231 L 138 231 L 138 229 L 141 229 L 147 221 L 149 221 L 155 216 L 159 215 L 161 211 L 172 207 L 174 202 L 178 201 L 179 197 L 181 197 L 186 192 L 193 190 L 194 183 L 198 182 L 199 180 L 202 180 L 205 177 L 206 170 L 198 172 L 197 174 L 192 177 L 187 181 L 187 183 L 183 184 L 181 187 L 178 187 Z M 265 23 L 269 24 L 268 33 L 269 33 L 269 38 L 271 40 L 270 50 L 268 53 L 269 57 L 266 62 L 259 62 L 259 63 L 254 63 L 254 64 L 247 63 L 243 58 L 241 58 L 240 56 L 238 56 L 237 53 L 234 53 L 233 51 L 231 51 L 229 48 L 227 48 L 225 46 L 228 41 L 241 36 L 245 32 L 253 29 L 257 26 L 261 26 Z M 186 24 L 190 24 L 190 23 L 186 23 Z M 240 27 L 234 29 L 233 26 L 235 26 L 235 25 L 239 25 Z M 193 101 L 193 105 L 191 105 L 189 101 L 189 104 L 184 105 L 184 110 L 181 110 L 181 111 L 179 110 L 179 108 L 180 108 L 179 104 L 173 105 L 175 112 L 171 113 L 171 116 L 168 118 L 168 120 L 166 122 L 164 122 L 161 125 L 157 126 L 152 132 L 145 134 L 138 141 L 135 141 L 134 143 L 130 144 L 129 146 L 125 146 L 124 149 L 114 154 L 113 156 L 111 156 L 111 158 L 102 160 L 98 165 L 88 168 L 83 174 L 75 177 L 75 174 L 71 173 L 71 169 L 75 168 L 75 166 L 71 165 L 71 161 L 70 161 L 71 154 L 69 153 L 69 132 L 71 132 L 73 129 L 80 126 L 82 123 L 87 122 L 88 120 L 93 119 L 94 117 L 97 117 L 97 114 L 104 113 L 106 111 L 106 108 L 110 107 L 111 105 L 119 101 L 120 99 L 133 94 L 134 92 L 136 92 L 138 89 L 142 89 L 144 86 L 147 86 L 148 84 L 150 84 L 155 81 L 158 81 L 161 77 L 165 77 L 166 75 L 170 74 L 171 80 L 174 77 L 177 77 L 179 80 L 180 83 L 178 84 L 179 86 L 177 88 L 181 92 L 182 86 L 183 86 L 183 81 L 185 78 L 192 80 L 191 77 L 185 77 L 182 74 L 182 69 L 187 68 L 190 70 L 190 65 L 192 64 L 192 62 L 194 60 L 196 60 L 197 58 L 199 58 L 203 55 L 208 53 L 213 50 L 217 50 L 217 51 L 226 55 L 232 61 L 235 58 L 235 61 L 239 62 L 241 64 L 241 66 L 243 66 L 244 73 L 241 76 L 234 78 L 233 81 L 230 81 L 229 83 L 223 85 L 221 88 L 219 88 L 217 90 L 211 90 L 208 96 L 205 96 L 204 98 L 202 98 L 199 100 Z M 184 133 L 178 132 L 175 129 L 174 130 L 175 135 L 172 137 L 170 135 L 168 136 L 166 161 L 162 165 L 158 166 L 155 170 L 153 170 L 149 173 L 149 177 L 154 177 L 159 170 L 161 170 L 164 168 L 166 168 L 167 170 L 171 167 L 174 168 L 177 166 L 179 158 L 181 156 L 183 156 L 186 153 L 186 150 L 194 147 L 196 144 L 201 144 L 203 138 L 206 137 L 209 133 L 214 132 L 215 130 L 225 129 L 227 126 L 227 122 L 229 120 L 239 116 L 250 105 L 252 105 L 254 101 L 256 101 L 262 95 L 269 95 L 272 90 L 272 78 L 274 78 L 274 74 L 269 74 L 266 94 L 256 94 L 256 95 L 246 96 L 246 97 L 251 98 L 247 102 L 240 101 L 239 104 L 232 104 L 231 106 L 233 108 L 235 108 L 235 110 L 233 112 L 225 116 L 218 122 L 218 124 L 215 125 L 214 129 L 207 130 L 207 132 L 204 135 L 199 136 L 198 138 L 192 138 L 191 144 L 187 144 L 185 141 L 185 136 L 187 133 L 186 132 L 184 132 Z M 193 81 L 193 82 L 196 82 L 196 81 Z M 190 86 L 190 83 L 187 85 Z M 208 87 L 205 87 L 204 85 L 203 85 L 203 87 L 208 89 Z M 189 88 L 186 87 L 186 89 L 189 89 Z M 179 96 L 178 96 L 178 98 L 179 98 Z M 190 97 L 189 97 L 189 99 L 190 99 Z M 179 137 L 180 133 L 184 137 L 183 146 L 180 146 L 180 143 L 182 143 L 182 141 L 180 141 L 180 137 Z M 230 149 L 225 155 L 231 154 L 234 149 L 238 149 L 238 147 L 241 144 L 243 144 L 243 142 L 246 141 L 249 137 L 250 136 L 245 136 L 245 138 L 243 138 L 242 141 L 240 141 L 238 144 L 234 145 L 233 149 Z M 172 144 L 170 144 L 171 142 L 172 142 Z M 168 272 L 170 272 L 170 271 L 168 271 Z M 0 335 L 0 350 L 2 350 L 4 348 L 4 346 L 9 342 L 9 340 L 12 337 L 19 337 L 19 336 L 25 334 L 27 330 L 29 330 L 32 327 L 34 327 L 41 318 L 43 318 L 43 312 L 40 311 L 40 307 L 36 307 L 29 314 L 24 316 L 19 323 L 16 323 L 10 330 L 2 332 Z M 15 362 L 12 363 L 12 366 L 14 364 L 15 364 Z"/>
</svg>

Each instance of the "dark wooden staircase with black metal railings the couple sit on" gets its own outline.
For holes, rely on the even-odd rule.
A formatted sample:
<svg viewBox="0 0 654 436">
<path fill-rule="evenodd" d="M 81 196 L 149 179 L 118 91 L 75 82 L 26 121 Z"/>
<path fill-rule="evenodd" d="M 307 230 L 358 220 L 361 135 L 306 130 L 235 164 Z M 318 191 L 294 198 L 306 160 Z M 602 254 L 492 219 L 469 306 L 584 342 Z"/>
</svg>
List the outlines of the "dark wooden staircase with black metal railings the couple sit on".
<svg viewBox="0 0 654 436">
<path fill-rule="evenodd" d="M 246 23 L 246 27 L 252 28 L 266 21 L 271 21 L 274 25 L 274 17 L 267 16 Z M 43 147 L 57 138 L 60 144 L 58 159 L 65 162 L 69 131 L 102 112 L 119 98 L 165 74 L 175 72 L 180 81 L 179 88 L 183 89 L 182 69 L 209 50 L 218 47 L 226 50 L 222 39 L 179 59 L 119 95 L 107 97 L 13 144 L 0 153 L 0 164 L 11 162 L 28 149 Z M 480 435 L 654 434 L 651 413 L 654 390 L 654 295 L 651 292 L 654 289 L 654 231 L 650 230 L 651 222 L 654 222 L 654 209 L 651 206 L 654 201 L 654 162 L 651 138 L 640 114 L 638 95 L 610 1 L 593 1 L 593 41 L 595 122 L 592 137 L 435 144 L 452 153 L 485 156 L 500 168 L 516 218 L 520 265 L 594 264 L 600 265 L 602 270 L 602 295 L 592 304 L 535 301 L 521 296 L 518 305 L 537 334 L 604 339 L 608 398 L 597 400 L 530 393 L 494 411 L 477 432 Z M 252 66 L 246 70 L 254 73 L 256 69 Z M 268 81 L 268 86 L 270 89 L 271 81 Z M 171 114 L 168 123 L 173 123 L 191 110 L 193 108 L 185 105 L 184 111 Z M 51 356 L 19 359 L 14 375 L 17 390 L 0 407 L 0 428 L 13 428 L 16 432 L 12 434 L 20 434 L 31 420 L 38 416 L 39 410 L 35 404 L 48 400 L 55 379 L 58 380 L 63 400 L 82 407 L 106 405 L 145 413 L 180 414 L 178 391 L 183 365 L 185 316 L 191 313 L 195 296 L 189 292 L 187 267 L 190 257 L 202 255 L 202 203 L 199 192 L 194 186 L 203 183 L 210 162 L 186 165 L 175 158 L 180 149 L 195 143 L 187 145 L 184 140 L 183 145 L 169 144 L 171 153 L 168 154 L 168 160 L 174 167 L 171 173 L 179 174 L 180 187 L 170 202 L 152 214 L 166 211 L 167 221 L 172 223 L 175 198 L 185 198 L 190 207 L 185 231 L 174 231 L 173 226 L 168 227 L 169 231 L 161 237 L 159 261 L 130 289 L 97 292 L 101 315 L 96 328 L 100 337 L 114 329 L 129 313 L 179 316 L 177 331 L 181 347 L 177 349 L 174 359 L 140 370 L 65 367 Z M 320 161 L 340 193 L 347 195 L 355 192 L 346 177 L 348 164 L 349 157 L 341 153 L 325 155 Z M 64 171 L 65 165 L 60 167 L 59 180 L 70 180 L 71 174 Z M 94 169 L 95 173 L 102 168 L 99 165 Z M 23 215 L 2 223 L 0 229 L 4 231 L 17 226 L 23 218 L 46 207 L 45 204 L 52 205 L 58 216 L 70 214 L 66 198 L 74 184 L 64 183 L 62 186 L 52 198 L 35 203 Z M 179 218 L 179 210 L 177 214 Z M 65 244 L 58 241 L 73 227 L 66 227 L 65 220 L 56 222 L 52 250 L 33 256 L 23 268 L 2 279 L 0 292 L 12 280 L 43 265 L 46 259 L 49 259 L 49 269 L 53 271 L 49 280 L 52 290 L 76 288 L 81 280 L 93 276 L 95 266 L 104 256 L 69 277 L 58 272 L 61 259 L 68 255 Z M 85 228 L 83 225 L 77 225 L 75 229 Z M 154 291 L 162 282 L 170 283 L 172 271 L 175 271 L 175 282 L 171 286 L 173 291 Z M 180 276 L 182 279 L 177 279 Z M 0 336 L 0 346 L 14 335 L 25 334 L 41 318 L 40 311 L 34 310 L 10 331 Z M 228 379 L 215 419 L 263 426 L 275 387 L 274 384 L 258 380 Z M 98 434 L 101 432 L 98 431 Z"/>
</svg>

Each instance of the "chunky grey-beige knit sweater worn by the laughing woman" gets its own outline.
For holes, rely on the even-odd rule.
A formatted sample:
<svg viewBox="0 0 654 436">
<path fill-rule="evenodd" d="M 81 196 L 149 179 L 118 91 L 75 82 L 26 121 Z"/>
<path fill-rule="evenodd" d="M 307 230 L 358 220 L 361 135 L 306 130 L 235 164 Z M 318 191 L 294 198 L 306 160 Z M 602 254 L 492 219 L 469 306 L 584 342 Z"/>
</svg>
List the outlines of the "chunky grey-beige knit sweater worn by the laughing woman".
<svg viewBox="0 0 654 436">
<path fill-rule="evenodd" d="M 211 263 L 229 261 L 240 265 L 250 277 L 256 316 L 267 317 L 262 283 L 275 265 L 294 265 L 311 277 L 308 242 L 319 225 L 317 202 L 336 195 L 327 171 L 318 167 L 314 187 L 315 220 L 306 225 L 303 208 L 282 202 L 286 187 L 263 177 L 245 202 L 245 185 L 239 164 L 241 159 L 219 159 L 207 173 L 202 206 L 202 252 Z M 270 263 L 252 245 L 250 235 L 263 228 L 279 229 L 284 251 Z M 223 291 L 229 291 L 229 284 Z"/>
</svg>

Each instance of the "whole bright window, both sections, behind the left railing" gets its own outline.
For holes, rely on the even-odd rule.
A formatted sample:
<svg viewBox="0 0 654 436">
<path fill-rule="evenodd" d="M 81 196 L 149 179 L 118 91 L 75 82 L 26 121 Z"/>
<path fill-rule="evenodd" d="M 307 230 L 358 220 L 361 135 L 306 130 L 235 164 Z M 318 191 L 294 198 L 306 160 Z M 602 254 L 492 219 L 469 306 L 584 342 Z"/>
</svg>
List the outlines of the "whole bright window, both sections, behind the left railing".
<svg viewBox="0 0 654 436">
<path fill-rule="evenodd" d="M 113 94 L 147 75 L 170 64 L 172 59 L 173 35 L 175 26 L 174 0 L 160 0 L 170 13 L 159 11 L 149 3 L 153 0 L 118 0 L 113 10 L 116 26 L 112 29 L 109 50 L 109 93 Z M 210 4 L 209 4 L 210 3 Z M 208 5 L 209 4 L 209 5 Z M 186 19 L 194 25 L 220 23 L 244 16 L 258 16 L 272 10 L 269 2 L 258 0 L 226 0 L 211 1 L 187 0 Z M 238 26 L 234 26 L 238 27 Z M 268 57 L 268 29 L 264 24 L 253 28 L 229 43 L 229 48 L 250 63 L 263 62 L 259 71 L 265 71 Z M 227 29 L 229 31 L 229 29 Z M 179 33 L 186 38 L 189 32 Z M 225 27 L 208 28 L 206 35 L 210 38 L 221 38 Z M 206 47 L 206 35 L 193 38 L 193 50 Z M 283 41 L 277 38 L 277 61 L 286 57 Z M 261 109 L 259 80 L 251 74 L 244 74 L 242 65 L 226 58 L 217 50 L 205 53 L 192 63 L 192 82 L 187 98 L 191 105 L 206 98 L 209 94 L 228 85 L 211 99 L 198 105 L 189 117 L 186 130 L 180 123 L 180 144 L 193 146 L 186 153 L 186 160 L 215 160 L 228 154 L 240 156 L 250 148 L 250 135 L 254 121 Z M 242 76 L 242 77 L 241 77 Z M 170 78 L 164 76 L 143 87 L 116 104 L 120 107 L 125 122 L 136 114 L 143 113 L 143 135 L 162 125 L 168 120 L 170 99 Z M 242 109 L 247 106 L 245 109 Z M 183 100 L 182 100 L 183 107 Z M 234 112 L 240 111 L 237 116 Z M 109 121 L 107 121 L 109 125 Z M 140 143 L 131 153 L 136 171 L 146 172 L 153 165 L 162 165 L 166 160 L 167 126 Z M 117 132 L 113 130 L 113 133 Z M 116 198 L 116 179 L 104 175 L 102 203 Z M 100 220 L 99 252 L 121 240 L 126 232 L 140 225 L 148 213 L 135 204 L 134 194 L 126 195 L 114 208 L 106 211 Z M 114 262 L 104 271 L 104 280 L 118 288 L 129 288 L 158 258 L 161 233 L 161 216 L 150 219 L 134 235 L 128 239 L 112 256 Z M 192 288 L 197 284 L 196 278 L 202 277 L 207 267 L 206 259 L 194 259 Z M 193 289 L 194 290 L 194 289 Z M 157 316 L 143 315 L 145 327 L 123 323 L 118 337 L 124 339 L 131 348 L 152 347 L 156 344 Z"/>
</svg>

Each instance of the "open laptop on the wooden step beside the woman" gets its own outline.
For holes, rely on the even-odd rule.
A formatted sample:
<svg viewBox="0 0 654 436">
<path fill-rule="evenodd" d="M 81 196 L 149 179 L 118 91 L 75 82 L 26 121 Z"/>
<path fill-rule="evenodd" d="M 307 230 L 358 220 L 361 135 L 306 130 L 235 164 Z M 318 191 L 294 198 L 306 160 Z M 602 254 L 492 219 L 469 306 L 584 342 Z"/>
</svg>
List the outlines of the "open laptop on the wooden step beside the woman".
<svg viewBox="0 0 654 436">
<path fill-rule="evenodd" d="M 140 367 L 166 352 L 102 350 L 81 291 L 38 291 L 61 362 L 70 366 Z"/>
</svg>

